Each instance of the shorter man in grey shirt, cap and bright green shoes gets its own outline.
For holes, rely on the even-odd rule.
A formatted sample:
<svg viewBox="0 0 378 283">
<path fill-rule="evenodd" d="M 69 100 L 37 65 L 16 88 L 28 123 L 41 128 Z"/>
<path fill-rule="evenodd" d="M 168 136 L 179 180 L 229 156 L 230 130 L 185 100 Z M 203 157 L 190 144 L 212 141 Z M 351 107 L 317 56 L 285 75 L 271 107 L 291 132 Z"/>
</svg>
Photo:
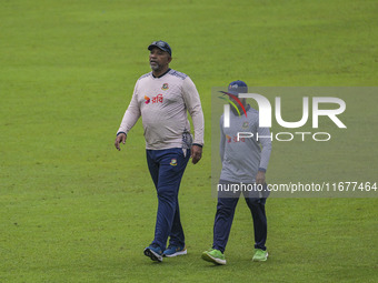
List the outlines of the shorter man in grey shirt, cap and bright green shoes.
<svg viewBox="0 0 378 283">
<path fill-rule="evenodd" d="M 223 115 L 220 118 L 219 153 L 222 169 L 218 184 L 221 188 L 230 188 L 243 183 L 252 188 L 250 191 L 242 191 L 253 221 L 255 255 L 252 261 L 267 261 L 268 224 L 265 204 L 269 195 L 266 171 L 271 153 L 271 140 L 267 138 L 270 137 L 270 131 L 269 128 L 259 125 L 259 112 L 247 104 L 246 99 L 239 100 L 239 93 L 248 93 L 248 87 L 243 81 L 231 82 L 228 92 L 222 93 L 229 95 L 237 108 L 231 108 L 229 127 L 223 125 Z M 240 131 L 253 133 L 253 137 L 238 139 Z M 226 264 L 225 250 L 240 194 L 241 191 L 218 191 L 212 247 L 202 253 L 201 257 L 205 261 Z"/>
</svg>

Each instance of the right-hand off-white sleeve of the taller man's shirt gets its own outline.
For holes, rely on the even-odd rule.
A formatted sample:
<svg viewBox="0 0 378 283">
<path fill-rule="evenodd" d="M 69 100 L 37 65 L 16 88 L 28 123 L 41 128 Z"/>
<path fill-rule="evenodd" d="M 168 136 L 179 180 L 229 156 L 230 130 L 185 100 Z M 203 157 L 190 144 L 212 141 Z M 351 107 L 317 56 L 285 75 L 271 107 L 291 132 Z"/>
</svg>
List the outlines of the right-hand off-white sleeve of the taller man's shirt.
<svg viewBox="0 0 378 283">
<path fill-rule="evenodd" d="M 182 93 L 186 107 L 188 109 L 189 114 L 191 115 L 191 120 L 193 121 L 195 127 L 193 143 L 203 145 L 205 122 L 201 101 L 196 89 L 196 85 L 189 77 L 187 77 L 183 80 Z"/>
</svg>

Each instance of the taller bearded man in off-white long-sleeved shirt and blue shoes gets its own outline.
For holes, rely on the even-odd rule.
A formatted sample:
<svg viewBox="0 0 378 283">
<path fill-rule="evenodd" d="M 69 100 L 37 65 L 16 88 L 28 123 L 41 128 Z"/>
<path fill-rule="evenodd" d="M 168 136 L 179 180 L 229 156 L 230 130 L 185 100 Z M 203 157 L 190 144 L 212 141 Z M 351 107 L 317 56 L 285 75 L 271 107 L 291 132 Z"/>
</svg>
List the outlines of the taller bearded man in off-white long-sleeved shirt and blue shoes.
<svg viewBox="0 0 378 283">
<path fill-rule="evenodd" d="M 145 249 L 145 255 L 161 262 L 162 256 L 187 253 L 178 192 L 189 158 L 193 164 L 201 159 L 205 127 L 195 83 L 187 74 L 169 68 L 172 60 L 169 44 L 153 41 L 148 50 L 152 71 L 138 79 L 115 145 L 120 150 L 120 143 L 125 144 L 128 132 L 141 117 L 147 163 L 159 201 L 155 239 Z M 193 140 L 187 112 L 193 122 Z"/>
</svg>

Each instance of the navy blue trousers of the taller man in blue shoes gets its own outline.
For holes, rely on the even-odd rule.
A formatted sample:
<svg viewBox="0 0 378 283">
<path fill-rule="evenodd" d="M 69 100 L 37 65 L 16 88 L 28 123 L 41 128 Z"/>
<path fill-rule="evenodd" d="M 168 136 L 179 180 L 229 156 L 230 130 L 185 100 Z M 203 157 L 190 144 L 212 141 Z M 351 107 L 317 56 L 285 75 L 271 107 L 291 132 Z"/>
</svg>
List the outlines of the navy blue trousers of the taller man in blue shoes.
<svg viewBox="0 0 378 283">
<path fill-rule="evenodd" d="M 178 194 L 190 150 L 177 148 L 146 152 L 148 169 L 158 194 L 158 213 L 151 245 L 158 245 L 165 251 L 168 236 L 170 245 L 183 245 Z"/>
</svg>

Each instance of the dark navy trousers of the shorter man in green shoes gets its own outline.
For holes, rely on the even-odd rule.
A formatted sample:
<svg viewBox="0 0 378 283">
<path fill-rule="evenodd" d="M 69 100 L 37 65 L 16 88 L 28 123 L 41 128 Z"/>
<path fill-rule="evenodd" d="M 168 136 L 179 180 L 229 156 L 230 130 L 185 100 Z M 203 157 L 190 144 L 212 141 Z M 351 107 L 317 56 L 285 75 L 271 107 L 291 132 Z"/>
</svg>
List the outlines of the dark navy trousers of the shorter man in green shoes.
<svg viewBox="0 0 378 283">
<path fill-rule="evenodd" d="M 232 198 L 227 198 L 232 195 Z M 240 191 L 238 193 L 221 194 L 218 193 L 218 204 L 216 220 L 213 223 L 213 243 L 212 249 L 222 253 L 226 250 L 228 237 L 230 235 L 231 225 L 235 215 L 235 209 L 238 204 Z M 245 200 L 252 214 L 255 249 L 267 250 L 267 216 L 265 212 L 266 198 L 249 198 L 245 194 Z"/>
</svg>

